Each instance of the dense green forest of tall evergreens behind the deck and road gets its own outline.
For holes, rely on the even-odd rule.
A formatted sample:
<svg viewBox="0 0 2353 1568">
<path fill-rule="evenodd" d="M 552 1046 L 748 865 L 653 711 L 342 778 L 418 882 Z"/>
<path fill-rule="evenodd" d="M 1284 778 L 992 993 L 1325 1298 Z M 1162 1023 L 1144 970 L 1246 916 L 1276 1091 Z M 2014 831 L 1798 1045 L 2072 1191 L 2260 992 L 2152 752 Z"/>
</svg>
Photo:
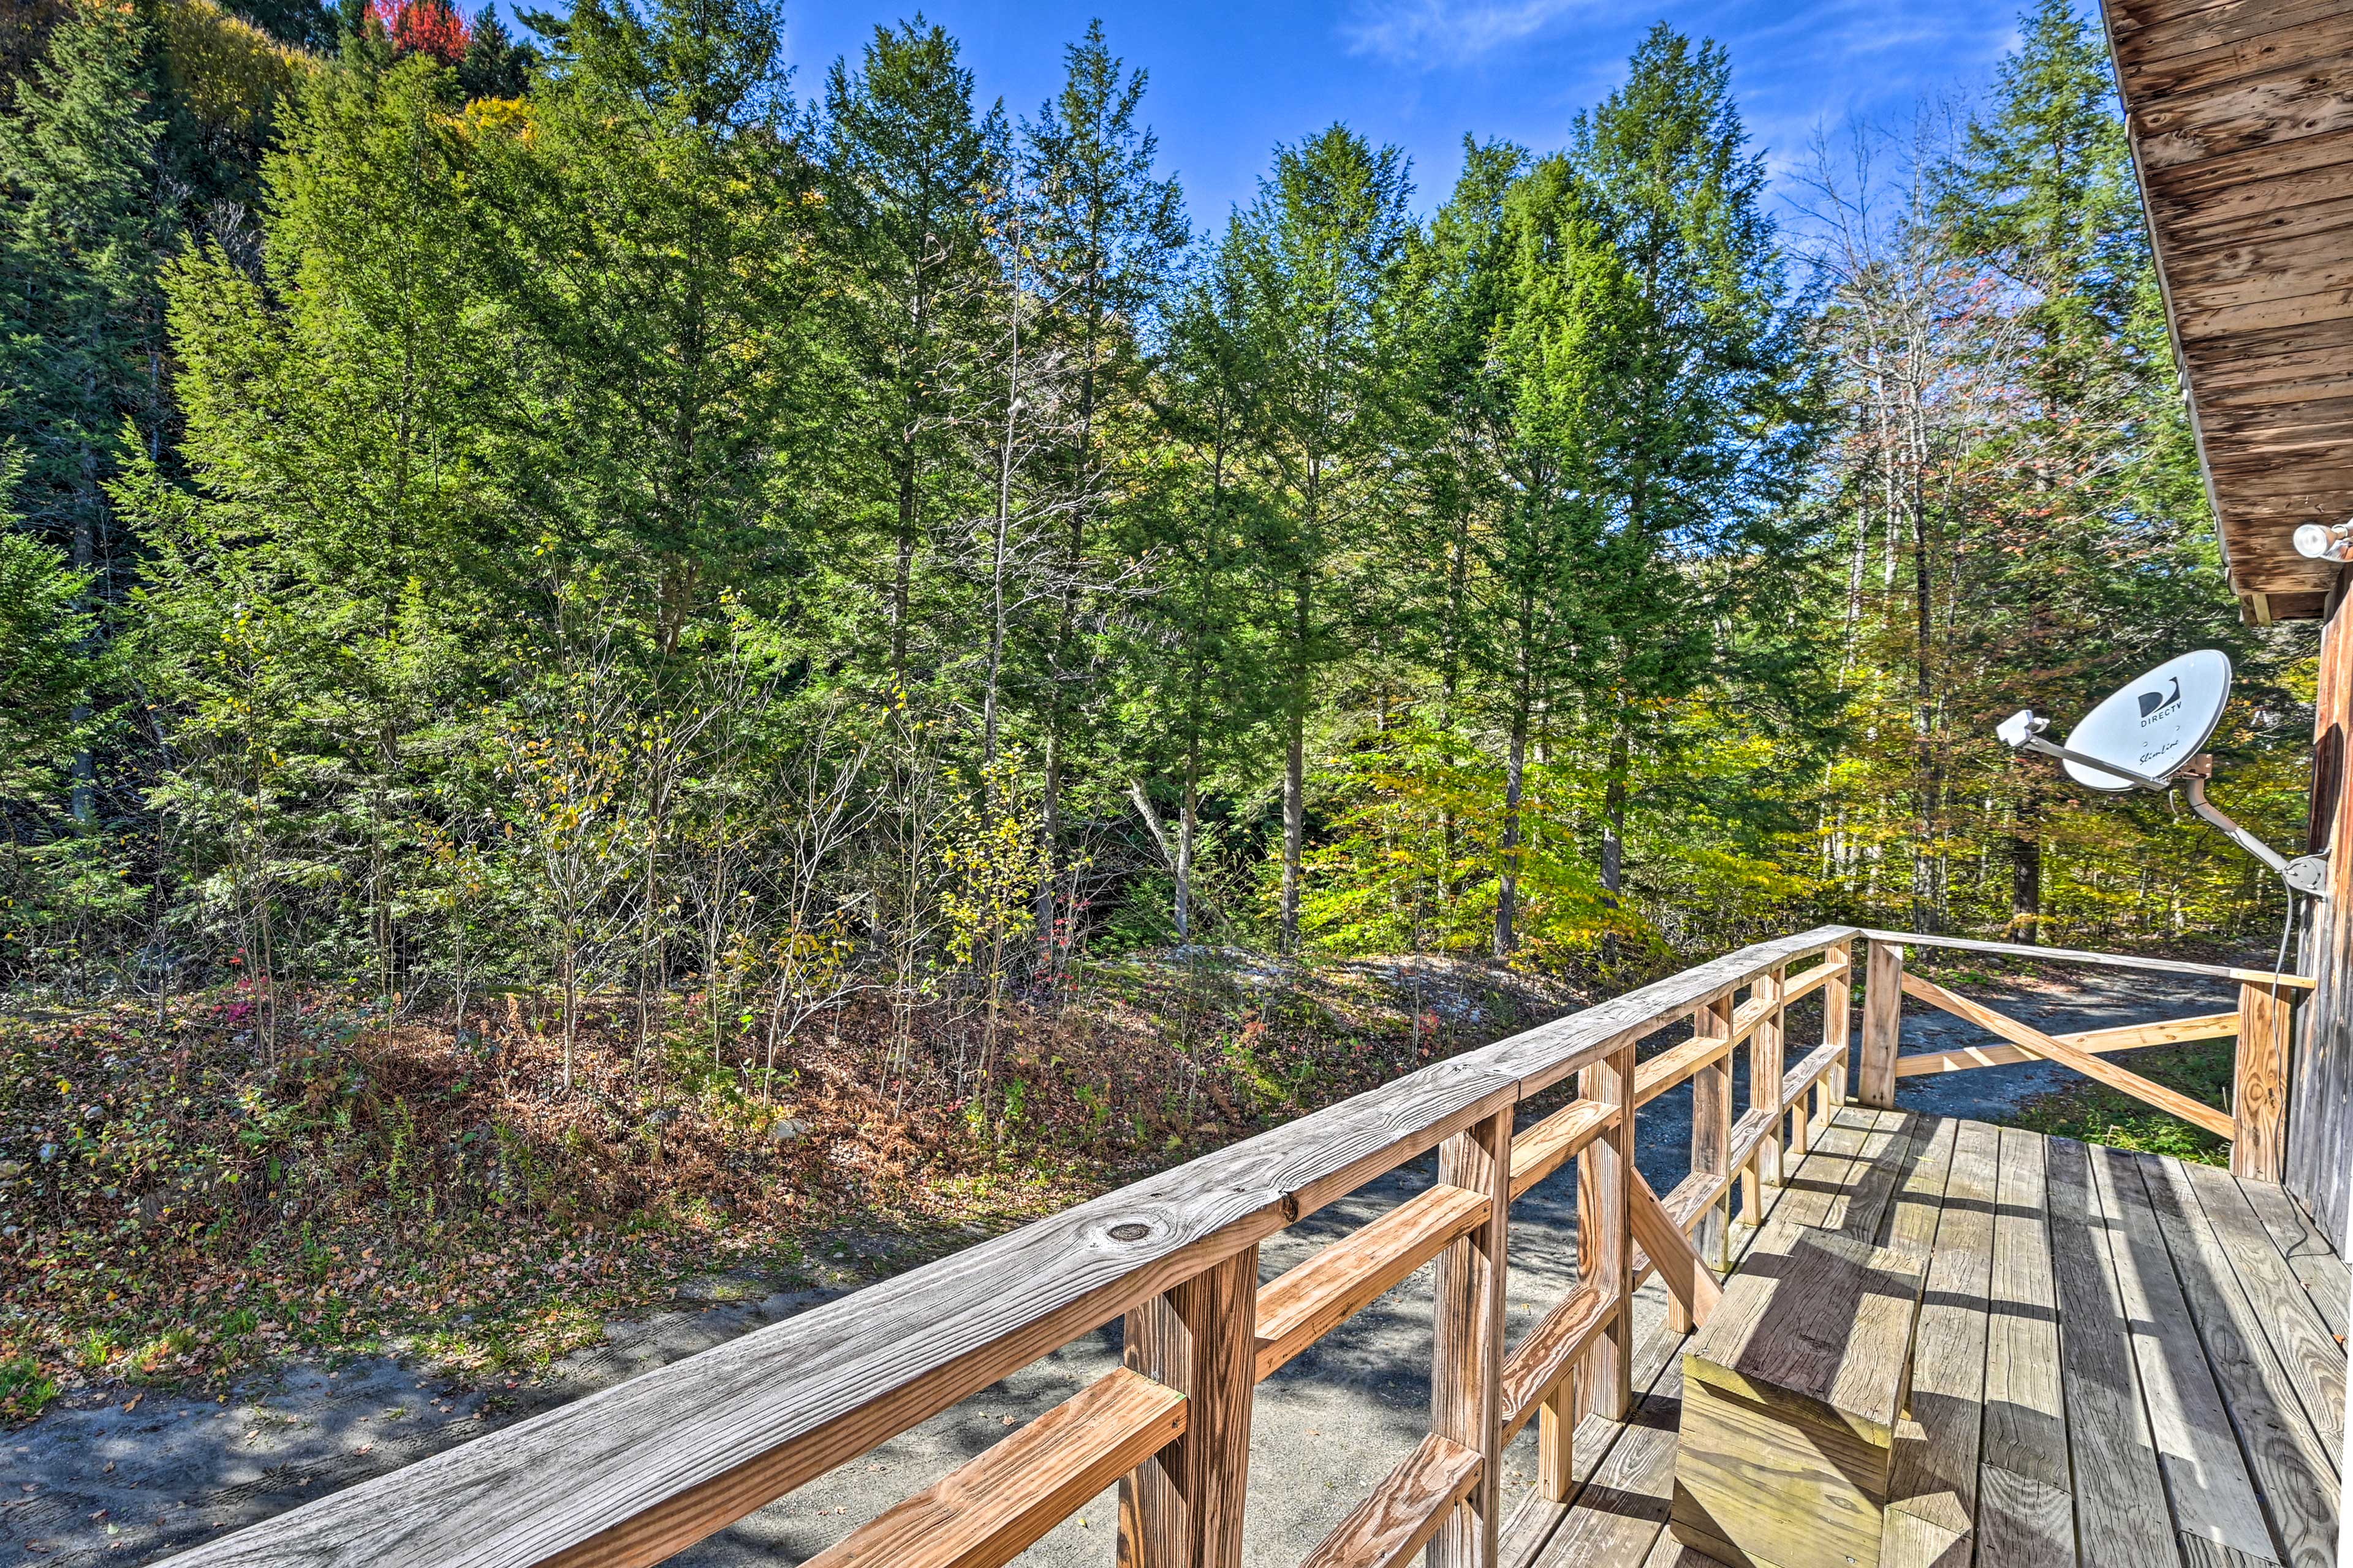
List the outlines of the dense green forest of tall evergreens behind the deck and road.
<svg viewBox="0 0 2353 1568">
<path fill-rule="evenodd" d="M 1779 174 L 1739 61 L 1659 24 L 1562 146 L 1466 139 L 1433 190 L 1301 125 L 1231 212 L 1104 26 L 1002 103 L 920 16 L 821 73 L 788 21 L 12 7 L 0 1258 L 45 1324 L 132 1291 L 139 1225 L 252 1241 L 238 1171 L 271 1225 L 612 1215 L 682 1114 L 713 1168 L 791 1159 L 852 1077 L 915 1143 L 1052 1098 L 1158 1150 L 1355 1072 L 1301 1088 L 1271 1001 L 1179 1030 L 1169 983 L 1120 1006 L 1231 1072 L 1146 1114 L 1054 1023 L 1120 976 L 2278 940 L 2219 835 L 1993 738 L 2219 646 L 2217 799 L 2304 827 L 2313 642 L 2224 585 L 2068 0 Z M 1417 992 L 1402 1060 L 1449 1018 Z M 346 1072 L 402 1039 L 475 1110 Z M 45 1208 L 85 1199 L 87 1244 Z"/>
</svg>

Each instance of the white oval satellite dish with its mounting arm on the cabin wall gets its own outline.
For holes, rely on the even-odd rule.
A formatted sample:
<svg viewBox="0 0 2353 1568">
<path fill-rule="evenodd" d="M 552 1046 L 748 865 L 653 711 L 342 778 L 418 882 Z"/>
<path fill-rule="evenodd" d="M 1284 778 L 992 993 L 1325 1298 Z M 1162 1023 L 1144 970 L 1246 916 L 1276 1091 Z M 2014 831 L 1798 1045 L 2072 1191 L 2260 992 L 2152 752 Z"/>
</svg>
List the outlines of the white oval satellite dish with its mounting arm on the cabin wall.
<svg viewBox="0 0 2353 1568">
<path fill-rule="evenodd" d="M 2033 708 L 2017 710 L 1993 733 L 2012 750 L 2057 757 L 2068 778 L 2087 790 L 2122 795 L 2167 790 L 2181 780 L 2191 811 L 2231 835 L 2231 842 L 2275 870 L 2297 893 L 2327 898 L 2327 853 L 2287 860 L 2207 802 L 2205 780 L 2214 776 L 2214 759 L 2205 755 L 2205 743 L 2214 738 L 2228 701 L 2231 656 L 2198 649 L 2125 682 L 2082 715 L 2066 745 L 2042 738 L 2049 719 Z"/>
</svg>

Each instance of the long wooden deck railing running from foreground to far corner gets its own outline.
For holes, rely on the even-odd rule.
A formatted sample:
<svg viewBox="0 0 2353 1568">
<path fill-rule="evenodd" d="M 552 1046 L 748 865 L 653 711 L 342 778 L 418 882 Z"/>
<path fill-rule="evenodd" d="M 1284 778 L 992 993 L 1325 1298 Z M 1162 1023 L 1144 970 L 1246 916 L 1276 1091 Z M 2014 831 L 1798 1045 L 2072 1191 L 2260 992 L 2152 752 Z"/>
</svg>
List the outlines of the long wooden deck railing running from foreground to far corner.
<svg viewBox="0 0 2353 1568">
<path fill-rule="evenodd" d="M 174 1561 L 659 1563 L 1125 1316 L 1120 1371 L 814 1563 L 1005 1563 L 1118 1483 L 1122 1568 L 1238 1568 L 1257 1382 L 1435 1260 L 1428 1436 L 1308 1563 L 1402 1563 L 1424 1547 L 1440 1568 L 1492 1563 L 1504 1446 L 1539 1422 L 1537 1486 L 1567 1495 L 1577 1420 L 1631 1403 L 1633 1291 L 1657 1272 L 1671 1328 L 1704 1319 L 1734 1185 L 1758 1213 L 1758 1187 L 1845 1098 L 1859 959 L 1873 983 L 1864 1086 L 1892 1100 L 1920 1060 L 1897 1065 L 1892 1023 L 1901 947 L 1925 940 L 1821 926 L 1744 947 Z M 1814 990 L 1821 1039 L 1791 1063 L 1788 1009 Z M 1638 1060 L 1682 1020 L 1687 1041 Z M 1998 1032 L 2068 1065 L 2120 1048 L 2009 1020 Z M 1751 1105 L 1734 1117 L 1739 1051 Z M 1572 1077 L 1574 1098 L 1515 1133 L 1518 1107 Z M 1689 1175 L 1661 1197 L 1633 1164 L 1635 1112 L 1685 1081 Z M 1259 1284 L 1266 1237 L 1431 1150 L 1435 1185 Z M 1511 1204 L 1572 1159 L 1579 1284 L 1506 1345 Z"/>
</svg>

